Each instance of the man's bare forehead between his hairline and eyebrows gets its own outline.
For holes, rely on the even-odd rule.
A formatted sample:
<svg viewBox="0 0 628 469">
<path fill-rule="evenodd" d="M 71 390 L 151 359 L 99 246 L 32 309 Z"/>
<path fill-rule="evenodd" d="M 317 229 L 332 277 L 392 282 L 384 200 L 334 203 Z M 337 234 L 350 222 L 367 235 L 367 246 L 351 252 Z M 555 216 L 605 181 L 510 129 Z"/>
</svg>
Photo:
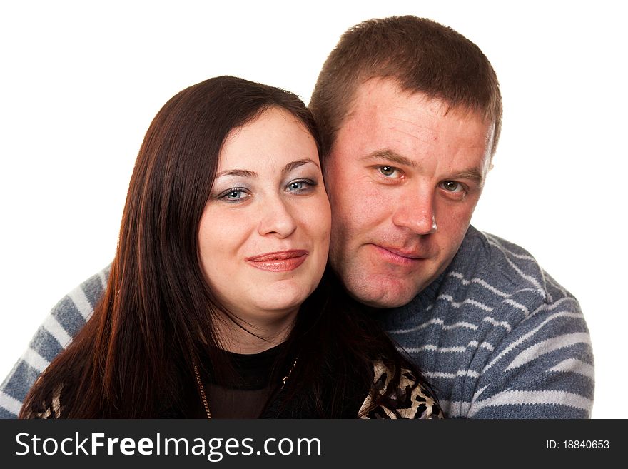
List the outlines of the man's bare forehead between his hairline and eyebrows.
<svg viewBox="0 0 628 469">
<path fill-rule="evenodd" d="M 450 163 L 453 172 L 472 172 L 473 178 L 483 179 L 494 132 L 495 124 L 473 111 L 406 91 L 391 79 L 371 79 L 356 91 L 334 147 L 348 152 L 345 159 L 353 156 L 350 160 L 392 155 L 396 158 L 380 159 L 393 166 L 416 166 L 425 158 L 442 156 L 441 164 Z M 410 163 L 400 163 L 400 158 Z"/>
</svg>

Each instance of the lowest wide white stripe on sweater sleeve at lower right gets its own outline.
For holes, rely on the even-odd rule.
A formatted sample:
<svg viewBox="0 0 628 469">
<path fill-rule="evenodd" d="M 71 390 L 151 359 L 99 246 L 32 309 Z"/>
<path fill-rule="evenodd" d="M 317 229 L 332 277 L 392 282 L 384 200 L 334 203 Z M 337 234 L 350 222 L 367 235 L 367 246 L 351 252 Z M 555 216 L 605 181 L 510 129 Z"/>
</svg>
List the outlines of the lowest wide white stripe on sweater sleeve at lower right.
<svg viewBox="0 0 628 469">
<path fill-rule="evenodd" d="M 582 397 L 582 395 L 568 393 L 567 391 L 545 390 L 545 391 L 520 391 L 507 390 L 496 394 L 491 398 L 480 400 L 472 405 L 469 410 L 469 417 L 472 418 L 483 408 L 495 407 L 498 405 L 547 405 L 557 404 L 567 407 L 579 408 L 589 411 L 593 405 L 592 400 Z"/>
</svg>

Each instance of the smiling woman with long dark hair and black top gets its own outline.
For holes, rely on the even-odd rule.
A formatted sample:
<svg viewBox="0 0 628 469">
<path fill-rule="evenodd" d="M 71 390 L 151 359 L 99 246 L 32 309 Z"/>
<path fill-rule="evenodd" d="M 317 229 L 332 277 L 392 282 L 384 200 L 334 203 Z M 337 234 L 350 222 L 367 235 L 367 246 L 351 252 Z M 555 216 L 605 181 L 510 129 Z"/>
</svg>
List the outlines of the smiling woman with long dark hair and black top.
<svg viewBox="0 0 628 469">
<path fill-rule="evenodd" d="M 296 96 L 230 76 L 181 91 L 141 146 L 103 300 L 21 418 L 440 416 L 324 274 L 329 232 Z"/>
</svg>

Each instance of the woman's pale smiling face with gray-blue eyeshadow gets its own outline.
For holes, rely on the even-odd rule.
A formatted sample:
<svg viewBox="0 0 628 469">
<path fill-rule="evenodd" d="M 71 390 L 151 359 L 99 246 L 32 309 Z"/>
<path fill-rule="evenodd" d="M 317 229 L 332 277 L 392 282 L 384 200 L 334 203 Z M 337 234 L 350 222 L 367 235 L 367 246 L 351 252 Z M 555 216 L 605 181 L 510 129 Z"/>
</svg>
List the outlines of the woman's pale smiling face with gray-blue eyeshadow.
<svg viewBox="0 0 628 469">
<path fill-rule="evenodd" d="M 330 217 L 315 141 L 297 118 L 271 108 L 234 129 L 198 231 L 212 291 L 253 326 L 292 319 L 323 275 Z"/>
</svg>

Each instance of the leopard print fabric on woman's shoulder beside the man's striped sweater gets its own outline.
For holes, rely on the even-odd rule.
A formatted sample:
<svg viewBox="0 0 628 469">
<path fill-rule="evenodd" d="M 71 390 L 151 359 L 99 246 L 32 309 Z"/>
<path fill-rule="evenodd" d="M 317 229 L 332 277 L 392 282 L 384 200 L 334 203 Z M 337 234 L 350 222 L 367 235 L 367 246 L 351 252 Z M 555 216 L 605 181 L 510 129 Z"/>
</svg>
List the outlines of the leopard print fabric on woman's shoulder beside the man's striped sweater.
<svg viewBox="0 0 628 469">
<path fill-rule="evenodd" d="M 383 395 L 390 382 L 390 369 L 381 361 L 373 362 L 375 393 Z M 423 388 L 409 370 L 403 370 L 399 386 L 394 393 L 385 396 L 379 405 L 368 395 L 360 412 L 360 418 L 443 418 L 442 410 L 430 391 Z"/>
</svg>

